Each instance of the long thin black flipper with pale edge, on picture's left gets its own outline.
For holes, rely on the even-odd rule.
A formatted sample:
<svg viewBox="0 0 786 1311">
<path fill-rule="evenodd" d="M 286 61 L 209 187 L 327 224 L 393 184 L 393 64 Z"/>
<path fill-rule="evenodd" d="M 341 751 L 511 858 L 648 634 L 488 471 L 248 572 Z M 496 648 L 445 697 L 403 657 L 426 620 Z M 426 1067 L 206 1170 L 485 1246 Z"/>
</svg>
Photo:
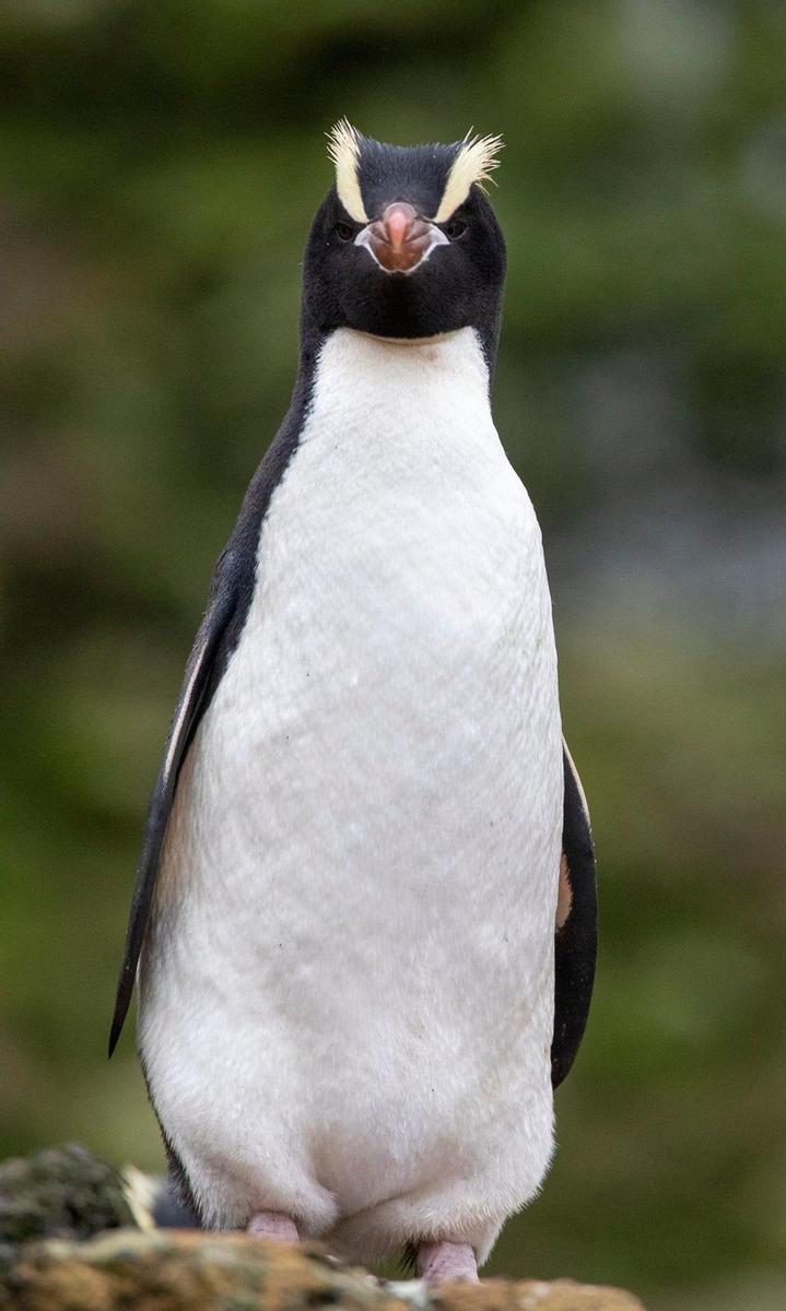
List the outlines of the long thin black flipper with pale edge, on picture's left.
<svg viewBox="0 0 786 1311">
<path fill-rule="evenodd" d="M 215 691 L 217 683 L 220 680 L 230 645 L 227 641 L 230 637 L 228 631 L 235 627 L 232 619 L 239 610 L 238 598 L 241 591 L 241 586 L 239 586 L 241 579 L 238 578 L 238 556 L 231 549 L 231 545 L 232 543 L 230 543 L 230 547 L 219 558 L 213 576 L 210 602 L 185 669 L 177 709 L 169 728 L 164 760 L 147 812 L 123 964 L 117 985 L 114 1015 L 109 1036 L 109 1055 L 112 1055 L 117 1046 L 117 1040 L 121 1036 L 134 991 L 139 953 L 144 941 L 144 931 L 152 905 L 161 847 L 175 801 L 177 779 L 199 720 L 210 704 L 210 697 Z"/>
</svg>

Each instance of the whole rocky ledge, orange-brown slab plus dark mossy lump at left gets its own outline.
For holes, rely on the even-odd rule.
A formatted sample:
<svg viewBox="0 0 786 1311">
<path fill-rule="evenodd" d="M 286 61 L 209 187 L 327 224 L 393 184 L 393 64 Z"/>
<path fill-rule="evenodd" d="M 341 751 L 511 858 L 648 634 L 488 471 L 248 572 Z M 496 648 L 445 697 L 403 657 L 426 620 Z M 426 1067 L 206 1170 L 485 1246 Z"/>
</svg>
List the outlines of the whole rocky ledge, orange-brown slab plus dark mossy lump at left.
<svg viewBox="0 0 786 1311">
<path fill-rule="evenodd" d="M 0 1311 L 643 1311 L 630 1293 L 572 1280 L 428 1290 L 379 1281 L 318 1244 L 140 1228 L 127 1192 L 81 1148 L 0 1167 Z M 85 1238 L 94 1224 L 105 1231 Z"/>
</svg>

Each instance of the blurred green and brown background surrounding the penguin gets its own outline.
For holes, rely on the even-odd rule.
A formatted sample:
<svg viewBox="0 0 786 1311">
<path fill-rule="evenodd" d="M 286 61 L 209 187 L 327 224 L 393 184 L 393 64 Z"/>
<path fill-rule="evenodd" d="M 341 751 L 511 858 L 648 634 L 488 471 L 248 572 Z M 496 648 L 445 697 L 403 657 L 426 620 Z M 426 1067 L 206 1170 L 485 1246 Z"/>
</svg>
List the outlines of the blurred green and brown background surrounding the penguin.
<svg viewBox="0 0 786 1311">
<path fill-rule="evenodd" d="M 559 1154 L 492 1269 L 782 1308 L 786 7 L 17 0 L 0 38 L 1 1154 L 161 1165 L 115 970 L 323 132 L 474 125 L 602 878 Z"/>
</svg>

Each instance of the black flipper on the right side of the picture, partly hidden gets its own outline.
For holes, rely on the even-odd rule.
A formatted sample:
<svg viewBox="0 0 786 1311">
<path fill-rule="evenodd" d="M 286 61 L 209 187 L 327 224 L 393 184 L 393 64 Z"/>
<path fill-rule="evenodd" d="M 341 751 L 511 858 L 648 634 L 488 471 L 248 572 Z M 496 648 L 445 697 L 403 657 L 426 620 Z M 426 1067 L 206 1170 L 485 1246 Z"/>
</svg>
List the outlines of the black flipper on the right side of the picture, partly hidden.
<svg viewBox="0 0 786 1311">
<path fill-rule="evenodd" d="M 596 867 L 589 810 L 563 739 L 564 808 L 555 939 L 551 1084 L 571 1068 L 587 1027 L 597 956 Z"/>
</svg>

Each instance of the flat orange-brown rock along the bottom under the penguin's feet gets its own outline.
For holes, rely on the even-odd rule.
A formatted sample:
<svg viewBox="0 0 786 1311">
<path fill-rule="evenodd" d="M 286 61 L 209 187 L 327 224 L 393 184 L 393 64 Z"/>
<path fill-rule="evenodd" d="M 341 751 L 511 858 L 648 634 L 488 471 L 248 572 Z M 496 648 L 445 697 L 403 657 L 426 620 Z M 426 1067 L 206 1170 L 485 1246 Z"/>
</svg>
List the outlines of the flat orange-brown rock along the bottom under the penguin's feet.
<svg viewBox="0 0 786 1311">
<path fill-rule="evenodd" d="M 241 1234 L 121 1230 L 85 1243 L 45 1242 L 0 1272 L 1 1311 L 643 1311 L 617 1289 L 486 1280 L 429 1293 L 383 1283 L 319 1247 Z"/>
</svg>

